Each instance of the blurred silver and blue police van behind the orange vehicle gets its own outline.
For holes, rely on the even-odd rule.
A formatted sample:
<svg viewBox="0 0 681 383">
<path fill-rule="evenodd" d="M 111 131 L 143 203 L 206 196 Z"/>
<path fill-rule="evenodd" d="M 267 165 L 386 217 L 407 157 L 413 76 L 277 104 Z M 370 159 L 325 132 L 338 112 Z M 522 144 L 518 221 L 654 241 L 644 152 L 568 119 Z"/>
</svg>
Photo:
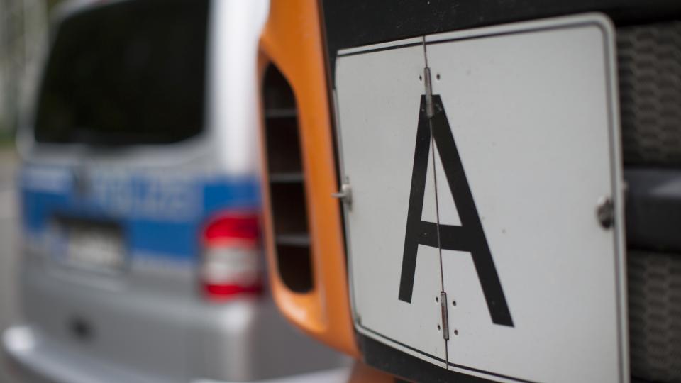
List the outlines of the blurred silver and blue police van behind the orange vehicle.
<svg viewBox="0 0 681 383">
<path fill-rule="evenodd" d="M 57 9 L 18 135 L 25 322 L 3 345 L 19 370 L 253 381 L 341 361 L 284 321 L 265 286 L 253 79 L 267 11 L 224 0 Z"/>
</svg>

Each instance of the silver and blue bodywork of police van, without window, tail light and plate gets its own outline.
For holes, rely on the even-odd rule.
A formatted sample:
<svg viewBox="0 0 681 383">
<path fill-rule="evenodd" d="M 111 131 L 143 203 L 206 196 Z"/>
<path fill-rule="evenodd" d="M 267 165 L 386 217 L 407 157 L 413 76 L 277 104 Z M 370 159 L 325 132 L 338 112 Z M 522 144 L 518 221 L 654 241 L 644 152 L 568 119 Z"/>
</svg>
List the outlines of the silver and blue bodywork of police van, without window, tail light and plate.
<svg viewBox="0 0 681 383">
<path fill-rule="evenodd" d="M 68 2 L 56 12 L 56 35 L 73 16 L 135 2 Z M 162 145 L 39 143 L 35 113 L 28 113 L 18 137 L 24 323 L 5 331 L 2 345 L 30 376 L 241 382 L 345 362 L 292 328 L 266 286 L 226 301 L 206 299 L 199 289 L 204 248 L 196 237 L 206 220 L 259 207 L 255 79 L 269 4 L 206 0 L 206 6 L 200 133 Z M 55 231 L 72 225 L 74 215 L 85 220 L 81 226 L 118 233 L 123 266 L 95 270 L 53 259 Z"/>
</svg>

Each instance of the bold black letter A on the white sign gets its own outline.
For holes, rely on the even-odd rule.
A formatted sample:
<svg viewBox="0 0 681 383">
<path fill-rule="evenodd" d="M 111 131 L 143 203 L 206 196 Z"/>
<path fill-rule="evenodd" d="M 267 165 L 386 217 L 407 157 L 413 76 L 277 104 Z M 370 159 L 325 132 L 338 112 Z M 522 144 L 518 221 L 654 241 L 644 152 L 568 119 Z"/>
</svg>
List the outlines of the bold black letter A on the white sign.
<svg viewBox="0 0 681 383">
<path fill-rule="evenodd" d="M 433 222 L 421 221 L 432 128 L 433 138 L 438 147 L 449 189 L 454 197 L 461 221 L 461 226 L 439 226 L 439 245 L 445 250 L 471 253 L 482 292 L 485 294 L 487 309 L 489 309 L 489 315 L 492 316 L 492 322 L 512 327 L 511 312 L 506 305 L 502 284 L 499 282 L 499 275 L 496 267 L 494 267 L 492 254 L 489 252 L 485 232 L 482 231 L 480 217 L 477 215 L 475 202 L 470 187 L 468 187 L 468 180 L 463 171 L 463 165 L 461 165 L 459 152 L 456 149 L 440 96 L 433 95 L 433 109 L 435 114 L 428 121 L 426 96 L 421 96 L 421 113 L 419 114 L 419 128 L 416 132 L 414 170 L 411 173 L 411 194 L 409 195 L 409 212 L 402 256 L 402 274 L 399 281 L 399 299 L 411 303 L 416 272 L 416 252 L 419 245 L 438 247 L 438 225 Z"/>
</svg>

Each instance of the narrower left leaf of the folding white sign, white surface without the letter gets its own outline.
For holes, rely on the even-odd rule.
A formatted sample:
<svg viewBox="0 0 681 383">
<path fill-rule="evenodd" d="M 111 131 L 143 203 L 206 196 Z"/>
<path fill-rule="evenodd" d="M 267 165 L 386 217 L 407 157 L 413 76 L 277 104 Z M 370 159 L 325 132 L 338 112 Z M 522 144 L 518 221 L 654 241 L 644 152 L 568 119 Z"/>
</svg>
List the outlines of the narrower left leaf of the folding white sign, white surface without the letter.
<svg viewBox="0 0 681 383">
<path fill-rule="evenodd" d="M 353 287 L 355 292 L 367 292 L 355 294 L 355 306 L 362 308 L 358 311 L 361 326 L 380 328 L 389 338 L 427 350 L 444 361 L 445 342 L 436 328 L 441 321 L 435 301 L 441 280 L 433 277 L 440 274 L 437 248 L 419 250 L 423 256 L 418 260 L 420 273 L 414 287 L 423 299 L 412 304 L 397 301 L 415 128 L 423 93 L 419 82 L 423 46 L 421 39 L 410 42 L 416 45 L 375 52 L 368 61 L 365 55 L 350 56 L 338 64 L 339 71 L 348 73 L 353 82 L 343 92 L 352 112 L 345 114 L 341 109 L 343 125 L 356 128 L 355 134 L 343 137 L 344 147 L 350 150 L 345 168 L 360 170 L 348 172 L 357 196 L 348 215 L 353 221 L 348 228 L 360 262 L 353 268 L 357 277 Z M 386 62 L 391 65 L 386 67 Z M 433 217 L 434 196 L 431 188 L 431 203 L 424 209 Z M 404 331 L 413 326 L 418 331 Z"/>
</svg>

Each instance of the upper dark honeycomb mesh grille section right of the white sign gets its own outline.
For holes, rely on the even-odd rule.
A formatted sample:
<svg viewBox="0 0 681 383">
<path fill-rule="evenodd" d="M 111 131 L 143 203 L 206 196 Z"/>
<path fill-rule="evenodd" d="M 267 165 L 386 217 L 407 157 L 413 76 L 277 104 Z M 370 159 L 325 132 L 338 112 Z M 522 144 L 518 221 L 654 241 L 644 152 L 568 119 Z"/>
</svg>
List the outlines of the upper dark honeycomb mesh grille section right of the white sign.
<svg viewBox="0 0 681 383">
<path fill-rule="evenodd" d="M 681 165 L 681 22 L 617 29 L 626 165 Z"/>
</svg>

